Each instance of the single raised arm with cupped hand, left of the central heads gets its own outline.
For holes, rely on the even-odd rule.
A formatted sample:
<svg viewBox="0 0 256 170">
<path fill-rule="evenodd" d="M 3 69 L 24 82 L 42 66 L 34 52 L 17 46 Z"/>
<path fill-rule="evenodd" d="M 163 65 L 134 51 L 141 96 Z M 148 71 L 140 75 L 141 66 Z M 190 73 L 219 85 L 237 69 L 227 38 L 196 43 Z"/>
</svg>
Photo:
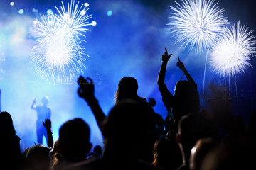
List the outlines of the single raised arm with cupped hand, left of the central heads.
<svg viewBox="0 0 256 170">
<path fill-rule="evenodd" d="M 84 77 L 80 76 L 78 78 L 78 84 L 78 96 L 84 98 L 87 104 L 90 106 L 90 109 L 92 110 L 92 113 L 97 121 L 97 125 L 102 132 L 102 123 L 103 120 L 105 120 L 106 115 L 103 113 L 97 99 L 95 98 L 95 87 L 93 81 L 89 77 L 85 79 Z"/>
</svg>

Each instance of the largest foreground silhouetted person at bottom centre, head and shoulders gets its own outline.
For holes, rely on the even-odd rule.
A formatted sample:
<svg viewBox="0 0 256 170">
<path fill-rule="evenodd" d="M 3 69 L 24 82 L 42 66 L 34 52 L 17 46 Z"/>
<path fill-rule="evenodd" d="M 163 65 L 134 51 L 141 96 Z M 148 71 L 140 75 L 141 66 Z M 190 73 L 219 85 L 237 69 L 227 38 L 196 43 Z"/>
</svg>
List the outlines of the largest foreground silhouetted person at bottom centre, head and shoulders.
<svg viewBox="0 0 256 170">
<path fill-rule="evenodd" d="M 144 121 L 147 112 L 137 101 L 119 101 L 103 125 L 102 159 L 80 162 L 70 169 L 158 169 L 145 162 L 153 151 L 151 132 Z"/>
</svg>

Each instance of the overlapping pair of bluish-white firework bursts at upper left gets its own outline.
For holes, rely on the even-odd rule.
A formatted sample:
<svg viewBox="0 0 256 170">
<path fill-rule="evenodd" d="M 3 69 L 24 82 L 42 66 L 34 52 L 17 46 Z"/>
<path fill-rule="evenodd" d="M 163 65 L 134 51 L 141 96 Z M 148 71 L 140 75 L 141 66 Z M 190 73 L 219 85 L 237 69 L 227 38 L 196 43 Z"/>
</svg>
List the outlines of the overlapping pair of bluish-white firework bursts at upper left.
<svg viewBox="0 0 256 170">
<path fill-rule="evenodd" d="M 92 18 L 86 15 L 88 8 L 68 3 L 68 11 L 62 3 L 58 15 L 41 15 L 41 21 L 36 20 L 34 36 L 36 45 L 33 47 L 31 63 L 36 74 L 53 84 L 68 83 L 83 74 L 85 69 L 85 47 L 82 46 L 80 35 L 89 31 L 85 26 Z M 81 13 L 83 11 L 83 14 Z"/>
</svg>

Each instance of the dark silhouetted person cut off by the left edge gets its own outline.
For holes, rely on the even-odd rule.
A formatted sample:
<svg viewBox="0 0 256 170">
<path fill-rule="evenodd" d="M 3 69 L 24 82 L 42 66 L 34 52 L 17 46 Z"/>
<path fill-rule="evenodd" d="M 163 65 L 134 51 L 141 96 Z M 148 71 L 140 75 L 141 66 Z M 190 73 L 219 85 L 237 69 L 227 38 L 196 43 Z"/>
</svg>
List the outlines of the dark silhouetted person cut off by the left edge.
<svg viewBox="0 0 256 170">
<path fill-rule="evenodd" d="M 0 136 L 0 169 L 18 169 L 21 163 L 20 138 L 8 112 L 0 113 Z"/>
</svg>

